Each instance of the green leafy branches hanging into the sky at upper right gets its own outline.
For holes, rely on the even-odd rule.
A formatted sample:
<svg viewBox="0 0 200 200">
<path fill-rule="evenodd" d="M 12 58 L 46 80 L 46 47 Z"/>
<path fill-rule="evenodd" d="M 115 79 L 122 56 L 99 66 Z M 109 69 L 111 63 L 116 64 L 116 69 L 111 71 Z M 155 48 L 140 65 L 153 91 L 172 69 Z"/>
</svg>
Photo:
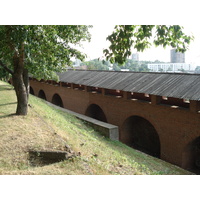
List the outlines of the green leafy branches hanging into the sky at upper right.
<svg viewBox="0 0 200 200">
<path fill-rule="evenodd" d="M 193 36 L 186 35 L 179 25 L 117 25 L 107 37 L 111 45 L 104 50 L 104 54 L 111 63 L 123 64 L 131 55 L 132 47 L 142 52 L 153 43 L 155 46 L 171 46 L 179 52 L 185 52 L 192 39 Z"/>
</svg>

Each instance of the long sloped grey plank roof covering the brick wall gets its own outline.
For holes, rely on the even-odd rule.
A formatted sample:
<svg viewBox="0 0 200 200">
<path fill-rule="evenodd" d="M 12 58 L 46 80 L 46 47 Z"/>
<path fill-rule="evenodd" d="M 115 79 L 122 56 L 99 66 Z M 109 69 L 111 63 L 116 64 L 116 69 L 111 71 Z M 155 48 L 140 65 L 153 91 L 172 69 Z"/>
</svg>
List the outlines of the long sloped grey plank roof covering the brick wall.
<svg viewBox="0 0 200 200">
<path fill-rule="evenodd" d="M 67 83 L 200 100 L 198 74 L 68 70 L 59 77 Z"/>
</svg>

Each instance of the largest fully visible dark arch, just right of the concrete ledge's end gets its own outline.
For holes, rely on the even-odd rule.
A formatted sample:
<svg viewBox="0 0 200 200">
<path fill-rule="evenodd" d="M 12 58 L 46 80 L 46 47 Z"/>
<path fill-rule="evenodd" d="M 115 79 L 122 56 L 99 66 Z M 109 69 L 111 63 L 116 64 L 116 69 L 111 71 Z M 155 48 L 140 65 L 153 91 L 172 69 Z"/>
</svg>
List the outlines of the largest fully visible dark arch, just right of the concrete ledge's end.
<svg viewBox="0 0 200 200">
<path fill-rule="evenodd" d="M 121 141 L 139 151 L 160 158 L 160 138 L 154 126 L 144 117 L 128 117 L 121 131 Z"/>
</svg>

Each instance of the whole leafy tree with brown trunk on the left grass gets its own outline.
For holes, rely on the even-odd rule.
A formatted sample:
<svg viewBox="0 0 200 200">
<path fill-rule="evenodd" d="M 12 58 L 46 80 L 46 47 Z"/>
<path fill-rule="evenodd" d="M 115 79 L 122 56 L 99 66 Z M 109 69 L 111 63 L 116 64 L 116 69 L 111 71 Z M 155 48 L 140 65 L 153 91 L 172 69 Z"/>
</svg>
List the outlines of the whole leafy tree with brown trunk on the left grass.
<svg viewBox="0 0 200 200">
<path fill-rule="evenodd" d="M 71 58 L 83 60 L 77 50 L 81 41 L 90 40 L 84 25 L 0 26 L 0 67 L 12 75 L 17 95 L 18 115 L 27 114 L 28 73 L 38 79 L 55 78 L 55 72 L 72 65 Z"/>
</svg>

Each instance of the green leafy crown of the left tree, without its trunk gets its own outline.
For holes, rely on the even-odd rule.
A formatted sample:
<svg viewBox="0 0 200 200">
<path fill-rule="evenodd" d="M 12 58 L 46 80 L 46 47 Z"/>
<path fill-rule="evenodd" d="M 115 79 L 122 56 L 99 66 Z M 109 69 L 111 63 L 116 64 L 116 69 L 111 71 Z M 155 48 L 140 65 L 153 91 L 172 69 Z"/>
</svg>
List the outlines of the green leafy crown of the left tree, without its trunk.
<svg viewBox="0 0 200 200">
<path fill-rule="evenodd" d="M 24 68 L 36 78 L 65 70 L 71 58 L 83 60 L 75 45 L 90 40 L 87 26 L 0 26 L 0 60 L 11 70 L 14 56 L 24 54 Z"/>
</svg>

